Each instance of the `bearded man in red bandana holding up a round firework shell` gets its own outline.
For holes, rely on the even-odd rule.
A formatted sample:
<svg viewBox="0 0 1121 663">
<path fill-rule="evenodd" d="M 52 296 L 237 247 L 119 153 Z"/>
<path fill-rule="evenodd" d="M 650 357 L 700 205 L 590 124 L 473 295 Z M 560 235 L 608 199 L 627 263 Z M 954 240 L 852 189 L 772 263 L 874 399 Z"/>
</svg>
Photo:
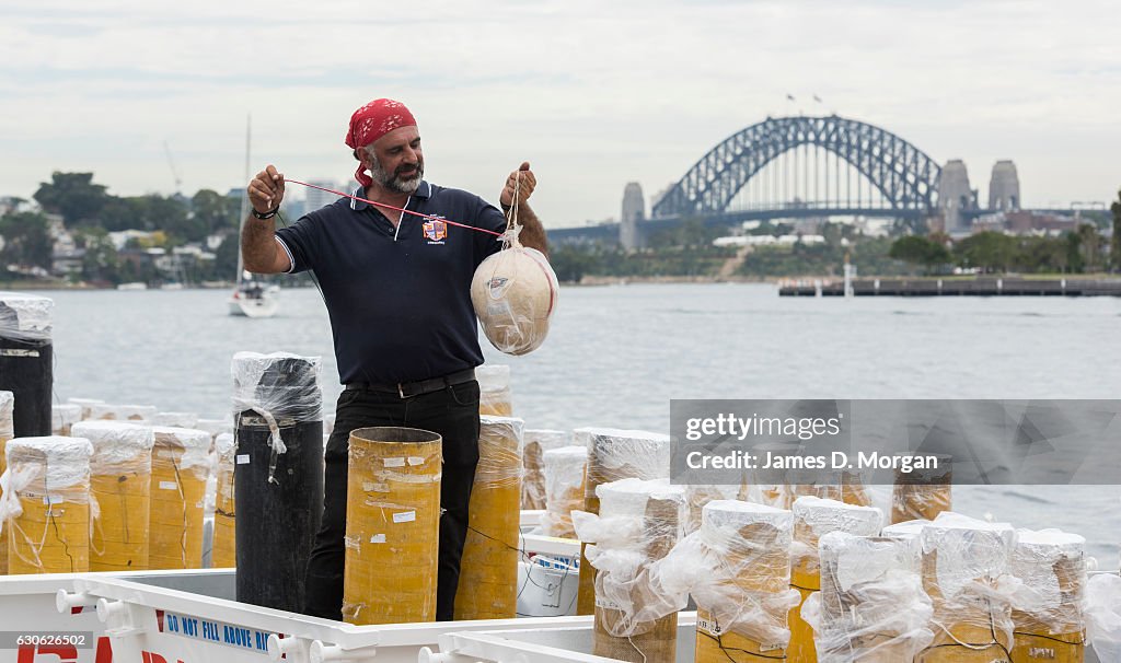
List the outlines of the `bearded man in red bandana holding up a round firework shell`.
<svg viewBox="0 0 1121 663">
<path fill-rule="evenodd" d="M 350 432 L 400 426 L 443 437 L 436 618 L 450 620 L 479 460 L 474 368 L 483 355 L 471 279 L 502 244 L 493 234 L 439 220 L 500 233 L 506 217 L 474 194 L 423 179 L 420 133 L 400 102 L 379 99 L 355 111 L 345 142 L 361 162 L 355 197 L 426 216 L 340 198 L 275 230 L 285 186 L 268 166 L 249 183 L 253 211 L 241 237 L 251 272 L 315 272 L 346 385 L 324 456 L 323 519 L 307 568 L 305 611 L 342 616 Z M 522 164 L 507 179 L 500 203 L 509 208 L 517 188 L 520 241 L 544 253 L 545 230 L 526 204 L 535 185 L 529 164 Z"/>
</svg>

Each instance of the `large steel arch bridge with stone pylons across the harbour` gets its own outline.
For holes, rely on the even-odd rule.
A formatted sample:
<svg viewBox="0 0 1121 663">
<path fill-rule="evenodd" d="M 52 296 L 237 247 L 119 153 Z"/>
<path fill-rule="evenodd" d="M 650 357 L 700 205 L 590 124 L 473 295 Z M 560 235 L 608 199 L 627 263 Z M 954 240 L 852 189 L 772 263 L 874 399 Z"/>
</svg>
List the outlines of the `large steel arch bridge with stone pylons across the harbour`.
<svg viewBox="0 0 1121 663">
<path fill-rule="evenodd" d="M 964 165 L 951 161 L 947 169 L 954 172 L 944 183 L 943 167 L 929 155 L 867 122 L 837 115 L 767 118 L 701 157 L 655 197 L 650 213 L 638 221 L 638 230 L 633 220 L 628 228 L 624 218 L 622 227 L 558 228 L 549 232 L 549 239 L 613 241 L 620 234 L 673 227 L 688 218 L 726 225 L 749 220 L 876 216 L 919 227 L 941 217 L 946 230 L 954 230 L 963 223 L 967 226 L 970 217 L 1018 207 L 1018 180 L 1015 195 L 991 198 L 989 208 L 981 208 L 967 178 L 962 179 Z"/>
</svg>

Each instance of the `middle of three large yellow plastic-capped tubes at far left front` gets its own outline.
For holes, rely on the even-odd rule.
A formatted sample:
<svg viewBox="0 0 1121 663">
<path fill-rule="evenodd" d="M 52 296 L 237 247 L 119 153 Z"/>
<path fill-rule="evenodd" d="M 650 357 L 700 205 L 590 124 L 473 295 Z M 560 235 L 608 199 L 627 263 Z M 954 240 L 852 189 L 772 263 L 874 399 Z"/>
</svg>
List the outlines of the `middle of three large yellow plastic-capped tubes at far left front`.
<svg viewBox="0 0 1121 663">
<path fill-rule="evenodd" d="M 93 445 L 90 570 L 147 569 L 155 432 L 126 421 L 80 421 L 73 430 Z"/>
</svg>

